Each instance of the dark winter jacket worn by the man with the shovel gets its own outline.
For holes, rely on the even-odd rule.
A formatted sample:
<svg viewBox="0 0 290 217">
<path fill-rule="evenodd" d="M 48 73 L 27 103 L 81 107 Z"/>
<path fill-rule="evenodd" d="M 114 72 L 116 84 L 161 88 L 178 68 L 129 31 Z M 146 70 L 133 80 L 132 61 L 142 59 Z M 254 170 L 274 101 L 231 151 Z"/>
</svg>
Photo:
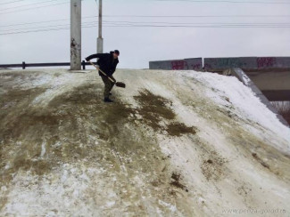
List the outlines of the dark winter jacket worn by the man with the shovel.
<svg viewBox="0 0 290 217">
<path fill-rule="evenodd" d="M 97 64 L 99 65 L 99 67 L 101 68 L 102 71 L 104 71 L 104 73 L 107 76 L 112 76 L 112 74 L 115 72 L 117 64 L 119 63 L 118 58 L 114 59 L 113 52 L 110 53 L 96 53 L 93 55 L 90 55 L 86 58 L 86 60 L 91 60 L 94 58 L 99 58 L 99 60 L 97 60 Z M 99 72 L 100 76 L 104 76 L 101 72 Z"/>
</svg>

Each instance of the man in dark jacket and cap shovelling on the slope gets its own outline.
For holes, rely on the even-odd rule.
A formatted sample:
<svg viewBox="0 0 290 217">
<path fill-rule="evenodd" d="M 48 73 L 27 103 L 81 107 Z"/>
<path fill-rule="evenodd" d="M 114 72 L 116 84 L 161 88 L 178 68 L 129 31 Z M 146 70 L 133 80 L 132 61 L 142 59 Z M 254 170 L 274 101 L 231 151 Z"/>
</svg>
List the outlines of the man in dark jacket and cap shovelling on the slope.
<svg viewBox="0 0 290 217">
<path fill-rule="evenodd" d="M 104 102 L 112 102 L 109 96 L 112 94 L 111 91 L 114 83 L 112 83 L 108 76 L 112 77 L 112 79 L 115 81 L 115 78 L 112 76 L 112 74 L 115 72 L 117 64 L 119 63 L 119 55 L 120 52 L 115 50 L 110 53 L 96 53 L 86 58 L 87 61 L 98 58 L 99 60 L 96 62 L 97 65 L 107 75 L 104 76 L 103 73 L 99 71 L 99 75 L 102 77 L 104 82 Z"/>
</svg>

